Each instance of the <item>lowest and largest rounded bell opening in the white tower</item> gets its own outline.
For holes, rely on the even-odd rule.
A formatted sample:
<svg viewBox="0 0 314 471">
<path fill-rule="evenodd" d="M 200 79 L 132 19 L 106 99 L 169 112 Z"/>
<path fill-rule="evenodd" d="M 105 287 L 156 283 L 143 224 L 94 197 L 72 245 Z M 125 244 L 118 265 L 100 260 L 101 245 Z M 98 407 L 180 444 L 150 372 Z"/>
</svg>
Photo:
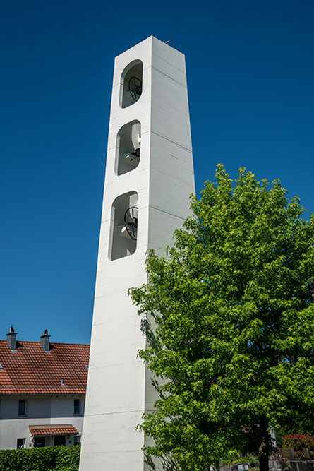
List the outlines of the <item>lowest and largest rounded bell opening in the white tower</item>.
<svg viewBox="0 0 314 471">
<path fill-rule="evenodd" d="M 109 258 L 134 254 L 138 239 L 138 193 L 130 191 L 114 200 L 111 213 Z"/>
</svg>

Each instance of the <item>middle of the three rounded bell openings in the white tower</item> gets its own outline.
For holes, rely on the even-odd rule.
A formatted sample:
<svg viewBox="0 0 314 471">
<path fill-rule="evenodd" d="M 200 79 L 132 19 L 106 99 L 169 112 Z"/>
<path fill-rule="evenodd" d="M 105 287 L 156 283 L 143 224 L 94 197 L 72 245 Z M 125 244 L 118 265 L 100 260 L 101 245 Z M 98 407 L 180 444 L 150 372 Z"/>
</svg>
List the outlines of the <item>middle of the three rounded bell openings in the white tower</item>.
<svg viewBox="0 0 314 471">
<path fill-rule="evenodd" d="M 116 136 L 116 174 L 134 170 L 140 163 L 140 122 L 131 121 Z"/>
</svg>

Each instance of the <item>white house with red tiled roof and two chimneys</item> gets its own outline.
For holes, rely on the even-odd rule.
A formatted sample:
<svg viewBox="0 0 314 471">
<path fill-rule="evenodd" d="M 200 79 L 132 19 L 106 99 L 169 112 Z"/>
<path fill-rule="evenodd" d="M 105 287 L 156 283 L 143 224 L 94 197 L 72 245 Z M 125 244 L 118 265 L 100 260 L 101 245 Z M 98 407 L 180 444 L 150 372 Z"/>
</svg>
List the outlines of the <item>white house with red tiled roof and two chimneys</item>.
<svg viewBox="0 0 314 471">
<path fill-rule="evenodd" d="M 90 345 L 16 335 L 0 340 L 0 448 L 80 443 Z"/>
</svg>

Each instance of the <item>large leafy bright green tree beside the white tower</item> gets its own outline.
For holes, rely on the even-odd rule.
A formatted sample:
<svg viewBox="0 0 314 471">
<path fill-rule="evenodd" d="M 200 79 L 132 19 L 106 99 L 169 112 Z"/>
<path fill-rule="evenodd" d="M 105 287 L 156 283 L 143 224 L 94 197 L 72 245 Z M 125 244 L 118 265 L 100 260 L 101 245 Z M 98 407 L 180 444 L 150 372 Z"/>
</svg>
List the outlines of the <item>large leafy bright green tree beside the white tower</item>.
<svg viewBox="0 0 314 471">
<path fill-rule="evenodd" d="M 240 169 L 234 184 L 223 165 L 216 179 L 130 290 L 160 395 L 139 428 L 167 469 L 250 446 L 266 471 L 272 428 L 314 427 L 314 215 L 279 180 Z"/>
</svg>

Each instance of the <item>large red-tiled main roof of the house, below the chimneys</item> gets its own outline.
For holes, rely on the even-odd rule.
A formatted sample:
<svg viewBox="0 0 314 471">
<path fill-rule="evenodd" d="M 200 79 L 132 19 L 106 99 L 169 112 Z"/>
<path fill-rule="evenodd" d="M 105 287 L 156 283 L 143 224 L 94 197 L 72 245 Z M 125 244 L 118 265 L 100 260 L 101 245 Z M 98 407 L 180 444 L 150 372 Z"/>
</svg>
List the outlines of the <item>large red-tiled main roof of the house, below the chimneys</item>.
<svg viewBox="0 0 314 471">
<path fill-rule="evenodd" d="M 51 343 L 47 353 L 24 341 L 11 352 L 0 340 L 0 395 L 85 394 L 89 354 L 90 345 Z"/>
</svg>

